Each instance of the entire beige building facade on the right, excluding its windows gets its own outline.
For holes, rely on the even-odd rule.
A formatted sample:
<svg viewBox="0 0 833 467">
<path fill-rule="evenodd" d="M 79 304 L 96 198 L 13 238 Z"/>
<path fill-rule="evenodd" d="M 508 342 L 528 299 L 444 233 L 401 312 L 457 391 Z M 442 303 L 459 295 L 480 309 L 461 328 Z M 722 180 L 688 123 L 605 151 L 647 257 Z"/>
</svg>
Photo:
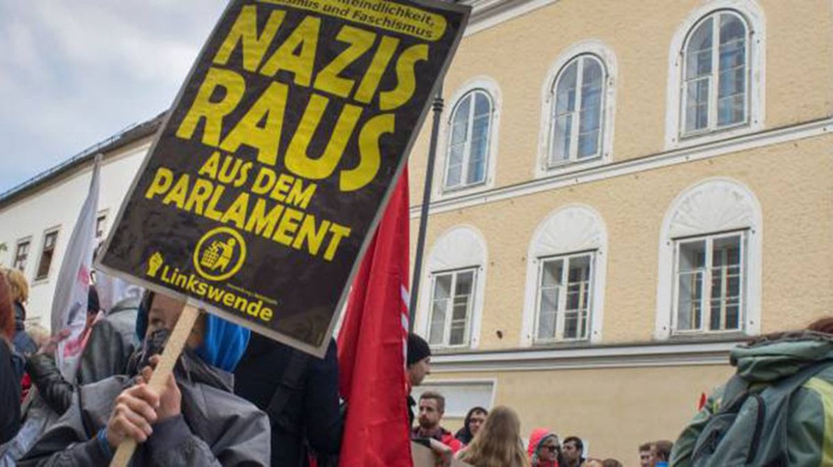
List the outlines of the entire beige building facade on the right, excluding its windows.
<svg viewBox="0 0 833 467">
<path fill-rule="evenodd" d="M 487 14 L 488 3 L 474 2 L 474 22 L 444 83 L 446 109 L 425 250 L 427 257 L 437 239 L 458 226 L 476 229 L 484 239 L 488 259 L 479 342 L 475 348 L 437 351 L 429 384 L 493 378 L 494 404 L 518 410 L 527 435 L 536 426 L 551 427 L 562 437 L 581 435 L 593 455 L 635 465 L 641 442 L 675 438 L 694 414 L 701 392 L 731 375 L 726 356 L 733 344 L 727 341 L 738 338 L 687 339 L 696 348 L 725 347 L 708 357 L 676 358 L 681 339 L 656 337 L 657 313 L 671 314 L 670 307 L 657 306 L 661 229 L 678 196 L 708 179 L 730 179 L 754 194 L 762 216 L 756 227 L 761 238 L 761 333 L 804 327 L 831 310 L 833 3 L 521 0 L 515 3 L 518 10 L 531 3 L 543 6 L 503 22 Z M 669 146 L 666 119 L 678 111 L 668 96 L 675 59 L 671 43 L 685 34 L 684 25 L 693 24 L 697 12 L 736 5 L 761 12 L 762 29 L 753 40 L 762 40 L 765 54 L 755 76 L 762 86 L 763 121 L 741 135 Z M 615 56 L 611 155 L 596 167 L 568 165 L 541 176 L 536 165 L 545 128 L 544 88 L 554 77 L 554 64 L 586 41 L 603 43 Z M 455 104 L 451 96 L 483 77 L 499 86 L 497 145 L 489 155 L 496 158 L 494 180 L 442 194 L 437 184 L 445 168 L 447 121 Z M 409 165 L 412 258 L 429 124 Z M 531 240 L 556 209 L 576 204 L 594 209 L 606 226 L 601 339 L 521 347 Z M 430 292 L 430 281 L 423 277 L 419 313 L 426 310 Z M 417 315 L 416 322 L 423 318 Z M 633 349 L 666 350 L 632 362 L 626 353 Z M 581 358 L 563 366 L 558 363 L 561 351 Z M 599 363 L 599 352 L 614 363 Z M 504 357 L 521 363 L 484 363 Z M 450 427 L 460 424 L 447 420 Z"/>
</svg>

